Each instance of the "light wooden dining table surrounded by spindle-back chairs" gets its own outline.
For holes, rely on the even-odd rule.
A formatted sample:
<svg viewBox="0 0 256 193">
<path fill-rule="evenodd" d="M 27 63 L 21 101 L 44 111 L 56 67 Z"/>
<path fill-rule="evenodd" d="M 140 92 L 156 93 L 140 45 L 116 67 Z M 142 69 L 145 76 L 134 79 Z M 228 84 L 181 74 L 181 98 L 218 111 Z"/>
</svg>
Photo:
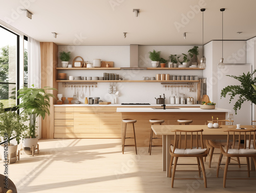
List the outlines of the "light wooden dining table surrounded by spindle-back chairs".
<svg viewBox="0 0 256 193">
<path fill-rule="evenodd" d="M 237 130 L 236 125 L 220 125 L 218 128 L 208 128 L 207 125 L 152 125 L 151 128 L 156 135 L 162 135 L 162 170 L 166 171 L 167 177 L 170 163 L 169 147 L 174 140 L 174 130 L 189 131 L 202 129 L 204 140 L 225 140 L 227 139 L 227 132 L 224 132 L 225 130 Z M 253 125 L 241 125 L 241 128 L 250 130 L 255 129 Z M 253 164 L 250 164 L 250 166 L 251 170 L 255 170 Z"/>
</svg>

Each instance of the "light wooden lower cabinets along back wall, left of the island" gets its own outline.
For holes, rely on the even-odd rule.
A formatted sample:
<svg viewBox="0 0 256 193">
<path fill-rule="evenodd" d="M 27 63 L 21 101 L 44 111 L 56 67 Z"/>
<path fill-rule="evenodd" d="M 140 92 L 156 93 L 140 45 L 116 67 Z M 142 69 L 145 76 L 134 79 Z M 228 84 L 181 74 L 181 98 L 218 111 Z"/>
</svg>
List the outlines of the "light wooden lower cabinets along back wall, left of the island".
<svg viewBox="0 0 256 193">
<path fill-rule="evenodd" d="M 121 125 L 113 106 L 54 108 L 54 138 L 121 138 Z"/>
</svg>

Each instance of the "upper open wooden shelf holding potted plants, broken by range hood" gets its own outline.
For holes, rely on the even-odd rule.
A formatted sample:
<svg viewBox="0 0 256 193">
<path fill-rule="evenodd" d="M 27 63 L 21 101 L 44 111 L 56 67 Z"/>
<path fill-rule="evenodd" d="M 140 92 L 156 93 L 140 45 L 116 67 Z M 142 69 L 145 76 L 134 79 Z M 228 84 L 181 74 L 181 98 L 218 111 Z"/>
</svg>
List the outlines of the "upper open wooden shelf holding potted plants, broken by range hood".
<svg viewBox="0 0 256 193">
<path fill-rule="evenodd" d="M 121 70 L 121 68 L 56 68 L 56 70 Z M 131 69 L 131 70 L 133 70 L 133 69 Z M 200 69 L 200 68 L 147 68 L 146 70 L 204 70 L 204 69 Z"/>
</svg>

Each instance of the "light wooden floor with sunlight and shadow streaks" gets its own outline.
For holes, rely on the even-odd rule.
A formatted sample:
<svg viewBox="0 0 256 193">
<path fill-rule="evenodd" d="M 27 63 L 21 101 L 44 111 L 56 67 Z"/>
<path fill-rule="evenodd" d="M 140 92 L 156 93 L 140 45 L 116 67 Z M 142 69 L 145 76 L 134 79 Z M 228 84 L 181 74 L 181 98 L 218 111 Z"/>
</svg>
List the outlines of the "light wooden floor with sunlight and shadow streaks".
<svg viewBox="0 0 256 193">
<path fill-rule="evenodd" d="M 9 178 L 18 193 L 255 192 L 256 189 L 256 180 L 228 180 L 227 188 L 222 188 L 223 171 L 221 178 L 216 178 L 217 155 L 212 168 L 208 168 L 207 161 L 205 164 L 207 189 L 202 180 L 175 180 L 175 187 L 171 188 L 171 179 L 162 171 L 161 147 L 153 147 L 150 156 L 146 147 L 139 147 L 138 155 L 134 147 L 125 147 L 122 155 L 120 139 L 41 140 L 39 145 L 39 155 L 21 155 L 19 161 L 9 165 Z M 0 165 L 3 174 L 4 164 Z M 191 178 L 198 172 L 177 173 L 177 177 L 184 175 Z M 242 176 L 246 177 L 246 172 Z M 251 176 L 255 178 L 255 172 Z"/>
</svg>

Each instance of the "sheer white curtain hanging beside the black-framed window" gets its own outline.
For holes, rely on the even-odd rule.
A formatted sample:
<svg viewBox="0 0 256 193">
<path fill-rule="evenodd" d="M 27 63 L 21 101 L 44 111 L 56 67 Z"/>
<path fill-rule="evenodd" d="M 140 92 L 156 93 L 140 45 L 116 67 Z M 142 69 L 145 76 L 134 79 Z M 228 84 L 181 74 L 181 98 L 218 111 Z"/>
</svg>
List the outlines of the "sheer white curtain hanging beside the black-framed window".
<svg viewBox="0 0 256 193">
<path fill-rule="evenodd" d="M 34 84 L 35 88 L 41 88 L 41 57 L 40 42 L 28 37 L 28 88 Z M 36 118 L 36 134 L 41 138 L 41 117 Z"/>
</svg>

